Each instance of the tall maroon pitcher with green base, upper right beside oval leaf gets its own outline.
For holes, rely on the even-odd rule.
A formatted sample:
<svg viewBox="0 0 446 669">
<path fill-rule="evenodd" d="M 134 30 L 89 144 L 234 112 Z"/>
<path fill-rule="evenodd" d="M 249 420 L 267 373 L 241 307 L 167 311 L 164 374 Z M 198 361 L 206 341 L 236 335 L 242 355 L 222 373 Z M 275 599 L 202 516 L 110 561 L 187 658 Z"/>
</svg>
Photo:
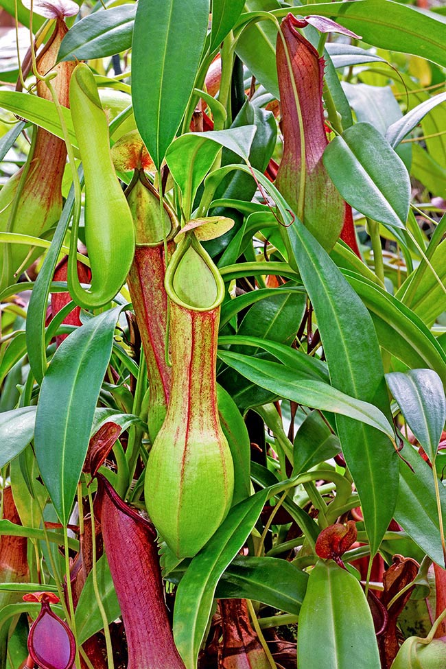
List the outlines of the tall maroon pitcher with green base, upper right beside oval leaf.
<svg viewBox="0 0 446 669">
<path fill-rule="evenodd" d="M 276 185 L 298 218 L 330 250 L 344 222 L 344 200 L 322 164 L 327 146 L 322 107 L 324 61 L 296 25 L 298 19 L 288 14 L 277 39 L 284 145 Z"/>
</svg>

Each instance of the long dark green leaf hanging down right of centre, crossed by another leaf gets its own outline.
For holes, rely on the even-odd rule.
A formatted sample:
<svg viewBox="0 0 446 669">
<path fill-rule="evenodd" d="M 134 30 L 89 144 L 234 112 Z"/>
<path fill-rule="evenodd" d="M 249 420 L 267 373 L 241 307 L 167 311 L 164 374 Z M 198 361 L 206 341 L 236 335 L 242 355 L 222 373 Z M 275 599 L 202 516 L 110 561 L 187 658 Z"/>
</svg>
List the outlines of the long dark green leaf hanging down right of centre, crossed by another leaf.
<svg viewBox="0 0 446 669">
<path fill-rule="evenodd" d="M 366 307 L 302 224 L 287 228 L 287 233 L 314 306 L 331 383 L 352 397 L 375 404 L 390 419 L 379 345 Z M 395 509 L 397 454 L 388 437 L 374 427 L 347 416 L 336 416 L 336 424 L 374 553 Z"/>
</svg>

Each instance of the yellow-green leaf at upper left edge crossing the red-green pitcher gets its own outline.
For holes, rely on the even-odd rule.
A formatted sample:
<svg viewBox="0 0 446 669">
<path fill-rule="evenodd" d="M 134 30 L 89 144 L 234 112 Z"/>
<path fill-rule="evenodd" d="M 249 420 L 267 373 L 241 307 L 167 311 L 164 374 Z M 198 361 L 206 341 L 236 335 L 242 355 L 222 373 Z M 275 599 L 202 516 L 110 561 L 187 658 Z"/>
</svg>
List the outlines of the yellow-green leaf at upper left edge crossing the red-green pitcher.
<svg viewBox="0 0 446 669">
<path fill-rule="evenodd" d="M 43 97 L 19 93 L 18 91 L 0 91 L 0 106 L 8 111 L 23 117 L 31 123 L 35 123 L 40 128 L 45 128 L 48 132 L 55 134 L 56 137 L 64 139 L 62 128 L 56 106 Z M 71 121 L 70 110 L 66 107 L 61 108 L 64 121 L 67 124 L 68 134 L 73 146 L 78 146 L 78 141 L 74 134 L 73 121 Z"/>
</svg>

